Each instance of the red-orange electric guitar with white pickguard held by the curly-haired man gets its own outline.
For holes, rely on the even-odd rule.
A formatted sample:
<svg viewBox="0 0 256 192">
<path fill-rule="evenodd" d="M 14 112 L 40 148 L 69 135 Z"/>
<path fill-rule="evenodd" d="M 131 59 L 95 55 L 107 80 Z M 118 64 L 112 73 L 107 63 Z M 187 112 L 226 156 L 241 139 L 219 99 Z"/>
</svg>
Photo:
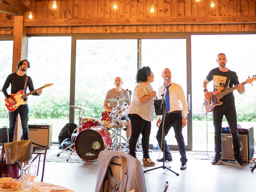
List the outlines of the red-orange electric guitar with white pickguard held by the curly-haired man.
<svg viewBox="0 0 256 192">
<path fill-rule="evenodd" d="M 45 84 L 44 86 L 36 89 L 36 90 L 33 90 L 27 94 L 24 95 L 24 91 L 23 90 L 19 90 L 16 94 L 10 94 L 10 97 L 13 98 L 16 103 L 11 103 L 7 98 L 4 99 L 4 102 L 5 102 L 5 106 L 7 107 L 7 109 L 10 111 L 10 112 L 13 112 L 15 111 L 20 105 L 25 105 L 27 102 L 24 101 L 23 99 L 26 98 L 27 96 L 37 92 L 39 89 L 42 89 L 42 88 L 45 88 L 45 87 L 49 87 L 53 85 L 52 83 L 51 84 Z"/>
</svg>

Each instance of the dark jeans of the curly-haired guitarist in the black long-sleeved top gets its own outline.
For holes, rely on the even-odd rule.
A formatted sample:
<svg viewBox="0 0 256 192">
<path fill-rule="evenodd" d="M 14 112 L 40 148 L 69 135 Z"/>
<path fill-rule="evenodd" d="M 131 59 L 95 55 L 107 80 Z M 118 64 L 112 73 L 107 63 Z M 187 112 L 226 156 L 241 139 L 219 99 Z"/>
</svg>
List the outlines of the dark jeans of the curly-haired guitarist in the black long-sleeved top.
<svg viewBox="0 0 256 192">
<path fill-rule="evenodd" d="M 9 142 L 13 142 L 18 114 L 20 114 L 23 140 L 28 140 L 28 104 L 21 105 L 14 112 L 9 112 Z"/>
</svg>

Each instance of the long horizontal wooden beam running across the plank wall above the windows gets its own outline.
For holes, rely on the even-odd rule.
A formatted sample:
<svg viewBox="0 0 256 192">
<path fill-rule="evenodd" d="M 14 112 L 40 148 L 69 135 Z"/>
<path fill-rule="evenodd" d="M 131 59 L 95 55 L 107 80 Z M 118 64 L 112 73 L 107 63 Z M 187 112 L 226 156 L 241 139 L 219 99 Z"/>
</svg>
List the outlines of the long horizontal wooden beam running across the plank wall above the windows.
<svg viewBox="0 0 256 192">
<path fill-rule="evenodd" d="M 145 18 L 83 18 L 83 19 L 24 19 L 26 27 L 40 26 L 134 26 L 134 25 L 194 25 L 194 24 L 252 24 L 253 16 L 178 16 Z M 12 20 L 0 20 L 0 27 L 12 27 Z"/>
</svg>

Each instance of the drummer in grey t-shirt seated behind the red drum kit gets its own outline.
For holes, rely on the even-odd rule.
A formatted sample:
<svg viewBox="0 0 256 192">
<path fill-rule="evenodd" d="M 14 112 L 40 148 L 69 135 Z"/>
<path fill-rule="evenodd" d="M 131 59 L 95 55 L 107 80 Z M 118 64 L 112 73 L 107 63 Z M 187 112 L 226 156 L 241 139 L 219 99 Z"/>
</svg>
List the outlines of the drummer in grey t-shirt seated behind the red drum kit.
<svg viewBox="0 0 256 192">
<path fill-rule="evenodd" d="M 122 88 L 123 80 L 120 77 L 116 77 L 114 81 L 115 88 L 108 90 L 106 98 L 103 103 L 103 108 L 105 110 L 112 110 L 113 107 L 116 106 L 116 102 L 109 102 L 108 99 L 110 98 L 116 98 L 119 96 L 119 98 L 126 98 L 128 101 L 126 102 L 128 105 L 130 105 L 130 97 L 129 93 Z M 109 105 L 108 105 L 109 103 Z M 121 106 L 125 106 L 125 102 L 119 102 L 119 108 L 118 110 L 120 111 Z M 121 120 L 126 121 L 126 138 L 127 138 L 127 144 L 129 143 L 129 138 L 131 136 L 131 122 L 130 119 L 128 118 L 127 114 L 122 114 Z M 124 129 L 125 130 L 125 129 Z"/>
</svg>

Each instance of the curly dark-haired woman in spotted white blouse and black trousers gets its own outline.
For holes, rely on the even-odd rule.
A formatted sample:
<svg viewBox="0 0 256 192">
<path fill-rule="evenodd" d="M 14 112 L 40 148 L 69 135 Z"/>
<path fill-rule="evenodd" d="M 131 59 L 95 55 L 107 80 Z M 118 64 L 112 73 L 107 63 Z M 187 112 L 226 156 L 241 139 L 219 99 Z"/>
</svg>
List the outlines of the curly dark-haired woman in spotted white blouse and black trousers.
<svg viewBox="0 0 256 192">
<path fill-rule="evenodd" d="M 130 155 L 136 158 L 136 143 L 142 134 L 142 162 L 144 166 L 155 165 L 148 154 L 151 121 L 153 121 L 154 115 L 154 99 L 156 99 L 156 92 L 150 85 L 153 81 L 154 75 L 149 67 L 142 67 L 138 70 L 136 75 L 138 84 L 134 89 L 133 100 L 128 109 L 128 117 L 132 124 L 132 134 L 129 140 Z"/>
</svg>

